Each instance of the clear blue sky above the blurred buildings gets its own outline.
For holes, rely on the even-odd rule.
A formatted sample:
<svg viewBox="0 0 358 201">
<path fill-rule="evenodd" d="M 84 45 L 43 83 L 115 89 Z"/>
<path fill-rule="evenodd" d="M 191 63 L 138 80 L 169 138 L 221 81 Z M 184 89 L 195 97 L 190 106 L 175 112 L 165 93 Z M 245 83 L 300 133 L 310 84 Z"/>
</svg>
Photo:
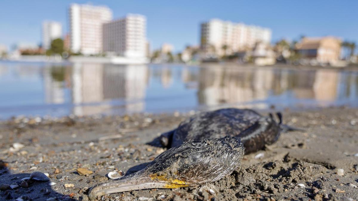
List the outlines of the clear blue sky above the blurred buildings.
<svg viewBox="0 0 358 201">
<path fill-rule="evenodd" d="M 199 43 L 199 24 L 212 18 L 272 29 L 272 43 L 299 39 L 300 35 L 334 35 L 358 43 L 358 1 L 54 1 L 9 0 L 0 2 L 0 44 L 40 43 L 41 23 L 55 20 L 67 32 L 71 3 L 107 5 L 114 18 L 127 13 L 147 17 L 151 49 L 171 43 L 179 51 Z"/>
</svg>

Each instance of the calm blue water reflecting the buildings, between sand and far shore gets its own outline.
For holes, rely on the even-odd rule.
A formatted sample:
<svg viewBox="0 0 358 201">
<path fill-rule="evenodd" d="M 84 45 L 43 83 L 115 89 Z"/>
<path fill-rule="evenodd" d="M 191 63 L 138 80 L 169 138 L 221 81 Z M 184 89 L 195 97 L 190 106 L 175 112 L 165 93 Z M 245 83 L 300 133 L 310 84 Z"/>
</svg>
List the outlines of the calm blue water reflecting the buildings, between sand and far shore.
<svg viewBox="0 0 358 201">
<path fill-rule="evenodd" d="M 210 65 L 0 62 L 0 118 L 256 109 L 358 107 L 358 72 Z"/>
</svg>

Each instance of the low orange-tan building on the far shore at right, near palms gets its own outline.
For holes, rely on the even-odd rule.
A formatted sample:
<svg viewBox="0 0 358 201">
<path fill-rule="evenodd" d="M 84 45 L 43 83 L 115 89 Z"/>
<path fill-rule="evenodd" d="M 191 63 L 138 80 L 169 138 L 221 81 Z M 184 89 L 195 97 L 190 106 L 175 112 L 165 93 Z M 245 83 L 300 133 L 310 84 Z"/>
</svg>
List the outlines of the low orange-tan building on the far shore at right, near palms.
<svg viewBox="0 0 358 201">
<path fill-rule="evenodd" d="M 341 40 L 333 36 L 322 38 L 303 38 L 295 46 L 302 59 L 315 60 L 319 63 L 335 63 L 339 60 Z"/>
</svg>

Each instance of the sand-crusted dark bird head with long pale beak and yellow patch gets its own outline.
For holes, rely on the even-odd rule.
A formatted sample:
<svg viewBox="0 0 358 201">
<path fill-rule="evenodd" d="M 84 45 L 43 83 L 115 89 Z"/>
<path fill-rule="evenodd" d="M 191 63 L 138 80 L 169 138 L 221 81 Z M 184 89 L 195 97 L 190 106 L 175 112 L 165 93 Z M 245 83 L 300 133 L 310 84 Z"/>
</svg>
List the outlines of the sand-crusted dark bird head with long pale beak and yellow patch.
<svg viewBox="0 0 358 201">
<path fill-rule="evenodd" d="M 240 139 L 224 137 L 189 141 L 170 148 L 146 168 L 91 189 L 88 197 L 149 188 L 180 188 L 214 182 L 240 165 L 245 148 Z"/>
</svg>

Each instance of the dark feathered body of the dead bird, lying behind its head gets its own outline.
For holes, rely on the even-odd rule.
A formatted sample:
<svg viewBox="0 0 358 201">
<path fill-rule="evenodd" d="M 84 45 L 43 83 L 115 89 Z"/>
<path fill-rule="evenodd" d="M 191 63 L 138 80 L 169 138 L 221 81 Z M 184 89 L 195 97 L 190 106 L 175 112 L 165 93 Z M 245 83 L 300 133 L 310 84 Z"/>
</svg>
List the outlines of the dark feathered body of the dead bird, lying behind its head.
<svg viewBox="0 0 358 201">
<path fill-rule="evenodd" d="M 251 109 L 202 112 L 189 117 L 178 128 L 161 134 L 160 141 L 165 147 L 175 147 L 190 140 L 235 136 L 241 138 L 246 153 L 251 153 L 276 142 L 281 132 L 301 130 L 282 124 L 281 113 L 276 115 L 279 122 L 272 114 L 261 116 Z"/>
</svg>

